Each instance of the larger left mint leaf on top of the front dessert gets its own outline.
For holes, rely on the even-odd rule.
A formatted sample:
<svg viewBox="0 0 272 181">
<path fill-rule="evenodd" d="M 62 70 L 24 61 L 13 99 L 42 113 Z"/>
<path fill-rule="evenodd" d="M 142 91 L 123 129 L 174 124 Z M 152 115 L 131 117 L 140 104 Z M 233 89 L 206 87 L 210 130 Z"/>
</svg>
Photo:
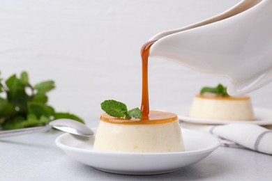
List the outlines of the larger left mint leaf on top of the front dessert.
<svg viewBox="0 0 272 181">
<path fill-rule="evenodd" d="M 116 100 L 105 100 L 101 103 L 101 108 L 109 116 L 113 116 L 115 118 L 122 118 L 126 116 L 126 113 L 128 112 L 126 104 L 123 104 L 122 102 L 118 102 Z"/>
</svg>

